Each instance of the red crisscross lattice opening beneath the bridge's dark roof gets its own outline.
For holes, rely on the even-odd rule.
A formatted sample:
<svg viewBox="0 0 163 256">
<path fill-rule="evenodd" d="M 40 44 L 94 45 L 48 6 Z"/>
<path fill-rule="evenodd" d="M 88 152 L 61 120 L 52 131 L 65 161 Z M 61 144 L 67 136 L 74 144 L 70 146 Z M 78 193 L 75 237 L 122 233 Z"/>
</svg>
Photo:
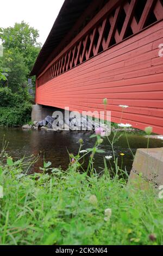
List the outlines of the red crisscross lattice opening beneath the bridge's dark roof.
<svg viewBox="0 0 163 256">
<path fill-rule="evenodd" d="M 102 18 L 98 19 L 101 15 Z M 77 36 L 77 39 L 73 40 L 74 44 L 55 59 L 39 77 L 37 86 L 45 84 L 162 19 L 162 0 L 110 0 L 87 25 L 89 29 L 85 29 L 83 36 L 79 39 Z"/>
</svg>

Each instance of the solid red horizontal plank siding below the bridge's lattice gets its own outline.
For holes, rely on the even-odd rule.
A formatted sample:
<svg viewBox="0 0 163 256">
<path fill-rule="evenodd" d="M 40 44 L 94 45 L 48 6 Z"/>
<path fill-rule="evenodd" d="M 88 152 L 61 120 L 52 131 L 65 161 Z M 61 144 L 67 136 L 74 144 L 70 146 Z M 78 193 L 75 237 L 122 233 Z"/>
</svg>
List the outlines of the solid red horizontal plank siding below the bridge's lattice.
<svg viewBox="0 0 163 256">
<path fill-rule="evenodd" d="M 36 89 L 36 103 L 70 110 L 103 111 L 108 98 L 112 121 L 163 134 L 163 65 L 157 44 L 163 41 L 162 22 Z M 163 60 L 162 60 L 163 62 Z"/>
</svg>

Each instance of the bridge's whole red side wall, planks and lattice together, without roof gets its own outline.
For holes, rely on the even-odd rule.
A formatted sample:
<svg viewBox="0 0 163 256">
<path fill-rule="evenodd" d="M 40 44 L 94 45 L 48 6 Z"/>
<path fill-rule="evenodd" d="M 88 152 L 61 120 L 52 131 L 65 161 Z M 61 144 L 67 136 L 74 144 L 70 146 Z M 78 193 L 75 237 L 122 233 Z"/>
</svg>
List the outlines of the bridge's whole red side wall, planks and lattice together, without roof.
<svg viewBox="0 0 163 256">
<path fill-rule="evenodd" d="M 163 134 L 163 57 L 158 56 L 163 21 L 141 31 L 150 10 L 157 20 L 162 19 L 162 5 L 160 0 L 148 2 L 139 21 L 134 16 L 136 1 L 124 3 L 121 31 L 117 17 L 122 7 L 116 7 L 114 15 L 104 16 L 100 25 L 74 40 L 37 78 L 36 103 L 79 112 L 103 111 L 106 97 L 111 121 L 119 123 L 122 109 L 118 105 L 128 105 L 123 123 L 139 129 L 150 125 Z M 131 34 L 135 35 L 124 40 Z"/>
</svg>

